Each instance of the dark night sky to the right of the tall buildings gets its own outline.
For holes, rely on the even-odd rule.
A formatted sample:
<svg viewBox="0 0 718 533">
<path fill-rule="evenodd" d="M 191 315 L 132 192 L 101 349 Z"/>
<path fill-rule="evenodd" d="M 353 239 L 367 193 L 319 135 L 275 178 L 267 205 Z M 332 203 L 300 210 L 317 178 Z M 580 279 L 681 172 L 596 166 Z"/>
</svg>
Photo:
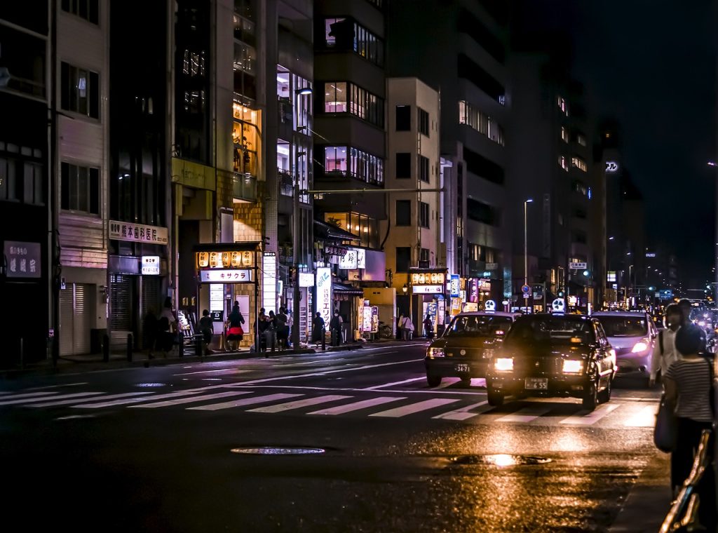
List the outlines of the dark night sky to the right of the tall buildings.
<svg viewBox="0 0 718 533">
<path fill-rule="evenodd" d="M 589 109 L 623 127 L 624 164 L 645 198 L 649 242 L 666 242 L 684 279 L 702 282 L 712 266 L 718 177 L 707 166 L 716 159 L 717 2 L 517 4 L 535 29 L 574 37 L 574 77 L 586 85 Z"/>
</svg>

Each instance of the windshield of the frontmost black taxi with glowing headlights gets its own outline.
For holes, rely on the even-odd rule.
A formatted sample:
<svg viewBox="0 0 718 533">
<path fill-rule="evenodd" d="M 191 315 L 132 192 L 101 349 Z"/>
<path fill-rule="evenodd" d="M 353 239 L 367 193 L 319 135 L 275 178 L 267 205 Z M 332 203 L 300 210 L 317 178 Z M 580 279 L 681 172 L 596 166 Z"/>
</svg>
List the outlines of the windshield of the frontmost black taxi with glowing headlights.
<svg viewBox="0 0 718 533">
<path fill-rule="evenodd" d="M 505 343 L 525 344 L 537 341 L 550 343 L 590 343 L 593 328 L 588 320 L 546 315 L 518 318 L 509 330 Z"/>
</svg>

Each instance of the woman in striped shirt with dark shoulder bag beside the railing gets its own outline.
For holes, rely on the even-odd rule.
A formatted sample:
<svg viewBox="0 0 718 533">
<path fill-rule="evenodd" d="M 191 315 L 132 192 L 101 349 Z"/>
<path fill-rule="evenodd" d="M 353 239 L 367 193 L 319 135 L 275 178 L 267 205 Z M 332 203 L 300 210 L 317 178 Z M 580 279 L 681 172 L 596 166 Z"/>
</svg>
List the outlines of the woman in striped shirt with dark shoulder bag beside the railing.
<svg viewBox="0 0 718 533">
<path fill-rule="evenodd" d="M 684 325 L 676 333 L 676 350 L 682 358 L 671 364 L 664 376 L 666 403 L 678 417 L 678 442 L 671 453 L 671 486 L 675 495 L 691 473 L 694 455 L 703 430 L 712 430 L 713 412 L 712 361 L 702 356 L 705 341 L 701 330 L 694 325 Z M 714 435 L 709 443 L 709 455 L 713 457 Z M 711 463 L 713 458 L 711 459 Z M 716 493 L 714 469 L 707 468 L 698 493 L 701 496 L 699 519 L 709 531 L 716 527 Z"/>
</svg>

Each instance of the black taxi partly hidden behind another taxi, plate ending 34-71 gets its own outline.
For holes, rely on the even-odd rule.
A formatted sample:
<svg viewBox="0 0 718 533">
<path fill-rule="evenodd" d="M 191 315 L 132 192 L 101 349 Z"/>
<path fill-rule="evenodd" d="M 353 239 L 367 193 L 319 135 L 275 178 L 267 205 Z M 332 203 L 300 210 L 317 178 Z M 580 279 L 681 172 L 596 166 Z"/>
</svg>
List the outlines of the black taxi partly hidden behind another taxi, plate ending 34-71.
<svg viewBox="0 0 718 533">
<path fill-rule="evenodd" d="M 485 376 L 493 351 L 518 315 L 501 311 L 462 312 L 426 349 L 426 382 L 438 386 L 442 378 L 465 383 Z"/>
</svg>

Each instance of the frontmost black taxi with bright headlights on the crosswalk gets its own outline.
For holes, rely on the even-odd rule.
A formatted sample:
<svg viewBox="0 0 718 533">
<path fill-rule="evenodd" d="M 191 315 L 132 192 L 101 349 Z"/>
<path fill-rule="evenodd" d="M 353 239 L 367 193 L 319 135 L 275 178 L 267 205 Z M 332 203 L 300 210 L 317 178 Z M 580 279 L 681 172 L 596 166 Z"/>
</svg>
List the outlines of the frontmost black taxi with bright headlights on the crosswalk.
<svg viewBox="0 0 718 533">
<path fill-rule="evenodd" d="M 509 395 L 574 397 L 592 411 L 611 397 L 616 354 L 601 323 L 584 315 L 516 319 L 486 372 L 490 405 Z"/>
</svg>

